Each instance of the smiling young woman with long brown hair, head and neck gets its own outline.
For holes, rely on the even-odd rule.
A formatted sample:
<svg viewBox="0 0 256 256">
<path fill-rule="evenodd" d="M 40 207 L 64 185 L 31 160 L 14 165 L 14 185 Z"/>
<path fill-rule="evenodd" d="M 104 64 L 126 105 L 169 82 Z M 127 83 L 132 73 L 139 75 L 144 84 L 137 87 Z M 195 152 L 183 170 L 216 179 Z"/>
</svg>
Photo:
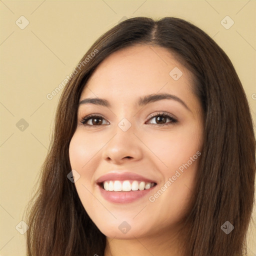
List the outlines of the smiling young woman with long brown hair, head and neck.
<svg viewBox="0 0 256 256">
<path fill-rule="evenodd" d="M 60 97 L 28 255 L 246 253 L 255 138 L 223 50 L 179 18 L 103 34 Z"/>
</svg>

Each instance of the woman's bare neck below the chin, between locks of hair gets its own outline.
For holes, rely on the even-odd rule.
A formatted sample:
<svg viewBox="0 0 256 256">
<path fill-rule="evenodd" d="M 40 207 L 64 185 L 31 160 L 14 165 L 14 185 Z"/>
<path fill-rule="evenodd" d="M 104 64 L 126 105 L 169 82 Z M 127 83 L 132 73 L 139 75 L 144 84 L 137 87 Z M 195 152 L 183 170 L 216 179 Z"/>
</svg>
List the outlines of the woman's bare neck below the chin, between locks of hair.
<svg viewBox="0 0 256 256">
<path fill-rule="evenodd" d="M 176 234 L 157 234 L 130 239 L 106 238 L 104 256 L 183 256 Z"/>
</svg>

